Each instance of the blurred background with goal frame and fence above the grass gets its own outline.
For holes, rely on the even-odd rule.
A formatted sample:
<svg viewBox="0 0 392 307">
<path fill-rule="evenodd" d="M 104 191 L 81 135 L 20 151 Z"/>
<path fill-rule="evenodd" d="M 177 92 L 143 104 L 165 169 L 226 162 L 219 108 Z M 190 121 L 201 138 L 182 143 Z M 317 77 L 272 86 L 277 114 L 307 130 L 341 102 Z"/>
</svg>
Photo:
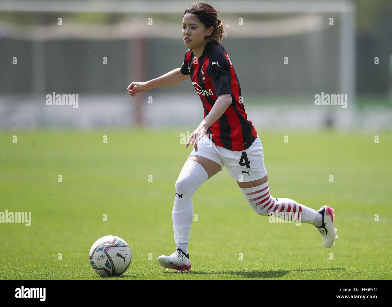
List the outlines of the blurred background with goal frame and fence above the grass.
<svg viewBox="0 0 392 307">
<path fill-rule="evenodd" d="M 189 80 L 127 86 L 180 67 L 192 1 L 2 0 L 0 128 L 192 130 L 203 118 Z M 209 1 L 257 129 L 392 129 L 390 0 Z M 288 65 L 284 58 L 288 58 Z M 78 94 L 78 108 L 46 95 Z M 315 95 L 347 94 L 347 108 Z"/>
</svg>

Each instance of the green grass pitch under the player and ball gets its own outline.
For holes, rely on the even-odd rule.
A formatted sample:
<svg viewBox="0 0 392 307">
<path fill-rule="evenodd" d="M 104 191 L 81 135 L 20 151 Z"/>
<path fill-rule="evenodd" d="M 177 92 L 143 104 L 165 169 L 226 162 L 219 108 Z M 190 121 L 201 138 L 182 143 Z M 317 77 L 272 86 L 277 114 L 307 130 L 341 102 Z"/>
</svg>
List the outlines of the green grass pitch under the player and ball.
<svg viewBox="0 0 392 307">
<path fill-rule="evenodd" d="M 312 225 L 254 213 L 224 168 L 193 196 L 191 271 L 161 270 L 156 258 L 175 249 L 174 184 L 191 152 L 180 144 L 183 132 L 2 131 L 0 211 L 31 211 L 32 221 L 0 223 L 0 278 L 107 279 L 88 254 L 114 234 L 130 245 L 132 263 L 113 280 L 392 279 L 387 133 L 375 143 L 374 134 L 259 132 L 271 195 L 335 209 L 339 238 L 330 249 Z"/>
</svg>

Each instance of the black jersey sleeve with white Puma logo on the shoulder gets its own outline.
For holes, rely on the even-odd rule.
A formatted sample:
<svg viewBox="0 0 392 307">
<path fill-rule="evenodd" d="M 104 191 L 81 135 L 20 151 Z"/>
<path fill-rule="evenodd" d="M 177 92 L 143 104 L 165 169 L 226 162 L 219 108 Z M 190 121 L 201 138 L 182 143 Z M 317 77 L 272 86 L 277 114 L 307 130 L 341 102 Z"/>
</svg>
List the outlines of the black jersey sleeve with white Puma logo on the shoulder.
<svg viewBox="0 0 392 307">
<path fill-rule="evenodd" d="M 211 59 L 207 67 L 217 98 L 221 94 L 232 94 L 229 61 L 224 54 L 218 58 L 218 60 Z"/>
</svg>

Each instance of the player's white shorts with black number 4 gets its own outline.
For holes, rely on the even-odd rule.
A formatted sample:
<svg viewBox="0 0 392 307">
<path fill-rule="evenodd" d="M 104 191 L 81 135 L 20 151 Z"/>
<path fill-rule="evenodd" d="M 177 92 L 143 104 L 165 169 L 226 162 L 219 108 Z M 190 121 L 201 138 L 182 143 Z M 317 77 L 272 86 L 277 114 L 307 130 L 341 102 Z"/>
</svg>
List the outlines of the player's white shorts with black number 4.
<svg viewBox="0 0 392 307">
<path fill-rule="evenodd" d="M 232 151 L 216 146 L 206 135 L 200 139 L 197 148 L 198 151 L 193 149 L 189 156 L 201 156 L 210 159 L 218 163 L 221 169 L 226 166 L 230 176 L 236 181 L 254 181 L 267 175 L 264 166 L 263 147 L 258 135 L 253 144 L 243 151 Z"/>
</svg>

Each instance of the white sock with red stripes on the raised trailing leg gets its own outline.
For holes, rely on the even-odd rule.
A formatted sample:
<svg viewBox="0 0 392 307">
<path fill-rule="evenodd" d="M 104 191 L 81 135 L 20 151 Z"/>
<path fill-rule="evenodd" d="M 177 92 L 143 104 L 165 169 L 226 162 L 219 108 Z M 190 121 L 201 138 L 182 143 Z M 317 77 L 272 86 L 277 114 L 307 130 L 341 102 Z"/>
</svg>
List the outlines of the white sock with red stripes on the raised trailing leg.
<svg viewBox="0 0 392 307">
<path fill-rule="evenodd" d="M 241 189 L 252 209 L 260 215 L 272 215 L 276 213 L 292 213 L 297 214 L 302 223 L 309 223 L 320 226 L 323 216 L 318 211 L 301 205 L 290 198 L 273 198 L 269 193 L 268 181 L 251 187 L 249 189 Z"/>
</svg>

